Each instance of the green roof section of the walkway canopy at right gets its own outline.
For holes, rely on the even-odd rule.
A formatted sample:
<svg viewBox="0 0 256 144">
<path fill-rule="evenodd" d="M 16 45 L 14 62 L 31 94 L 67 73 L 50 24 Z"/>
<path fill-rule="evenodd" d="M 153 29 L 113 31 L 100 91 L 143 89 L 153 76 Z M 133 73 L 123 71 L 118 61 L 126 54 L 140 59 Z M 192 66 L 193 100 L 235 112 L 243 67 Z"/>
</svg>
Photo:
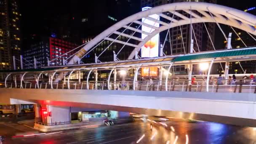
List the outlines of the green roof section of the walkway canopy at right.
<svg viewBox="0 0 256 144">
<path fill-rule="evenodd" d="M 189 61 L 197 59 L 209 59 L 209 58 L 218 58 L 218 57 L 227 57 L 227 56 L 243 56 L 243 55 L 252 55 L 256 54 L 256 49 L 247 49 L 247 50 L 237 50 L 237 51 L 224 51 L 224 52 L 215 52 L 215 53 L 202 53 L 189 56 L 179 56 L 173 59 L 173 62 L 176 61 Z"/>
</svg>

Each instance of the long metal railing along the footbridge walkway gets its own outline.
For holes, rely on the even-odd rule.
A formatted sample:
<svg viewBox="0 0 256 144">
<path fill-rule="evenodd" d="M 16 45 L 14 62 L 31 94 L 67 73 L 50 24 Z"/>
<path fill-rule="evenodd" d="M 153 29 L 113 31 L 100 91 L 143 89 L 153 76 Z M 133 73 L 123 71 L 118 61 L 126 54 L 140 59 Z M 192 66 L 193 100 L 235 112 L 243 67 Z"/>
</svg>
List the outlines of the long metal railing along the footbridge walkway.
<svg viewBox="0 0 256 144">
<path fill-rule="evenodd" d="M 7 82 L 7 88 L 21 88 L 21 83 Z M 0 82 L 1 88 L 5 87 L 4 82 Z M 165 81 L 116 81 L 109 82 L 70 82 L 69 88 L 67 83 L 53 83 L 53 89 L 87 89 L 87 90 L 123 90 L 123 91 L 194 91 L 205 92 L 206 80 L 168 80 Z M 134 87 L 135 86 L 135 87 Z M 166 88 L 167 86 L 167 88 Z M 23 88 L 50 89 L 51 83 L 24 82 Z M 134 87 L 134 88 L 133 88 Z M 256 80 L 210 80 L 209 92 L 233 92 L 233 93 L 256 93 Z"/>
</svg>

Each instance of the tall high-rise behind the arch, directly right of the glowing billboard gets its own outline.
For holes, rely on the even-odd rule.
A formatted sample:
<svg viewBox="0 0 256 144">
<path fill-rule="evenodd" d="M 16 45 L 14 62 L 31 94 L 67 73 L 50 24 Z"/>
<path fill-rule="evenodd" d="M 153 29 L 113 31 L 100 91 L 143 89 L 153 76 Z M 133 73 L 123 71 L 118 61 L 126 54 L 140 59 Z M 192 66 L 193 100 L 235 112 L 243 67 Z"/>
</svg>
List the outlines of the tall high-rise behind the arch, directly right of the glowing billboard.
<svg viewBox="0 0 256 144">
<path fill-rule="evenodd" d="M 155 7 L 158 5 L 168 4 L 168 3 L 177 3 L 177 2 L 207 2 L 207 3 L 216 3 L 216 0 L 141 0 L 141 7 Z M 189 17 L 189 13 L 185 11 L 179 11 L 179 13 L 187 15 Z M 165 13 L 166 15 L 172 16 L 171 13 Z M 179 19 L 178 16 L 174 16 L 174 19 Z M 160 18 L 161 19 L 161 18 Z M 203 23 L 195 23 L 192 24 L 195 32 L 192 33 L 192 37 L 194 39 L 193 49 L 195 51 L 211 51 L 213 50 L 213 46 L 210 38 L 208 37 L 208 33 L 205 30 L 205 26 Z M 208 29 L 209 35 L 214 43 L 214 34 L 215 34 L 215 24 L 214 23 L 206 23 L 206 27 Z M 190 24 L 183 25 L 181 27 L 173 27 L 170 29 L 170 39 L 165 43 L 163 48 L 164 53 L 166 55 L 171 54 L 181 54 L 181 53 L 189 53 L 190 51 L 190 42 L 191 42 L 191 33 L 190 33 Z M 160 43 L 163 44 L 165 40 L 166 32 L 162 32 L 160 34 Z M 196 40 L 195 40 L 196 39 Z M 170 40 L 172 45 L 172 51 L 170 50 Z M 197 46 L 198 45 L 198 46 Z M 185 73 L 186 69 L 184 66 L 175 66 L 176 73 Z M 197 66 L 193 67 L 193 72 L 199 72 Z"/>
</svg>

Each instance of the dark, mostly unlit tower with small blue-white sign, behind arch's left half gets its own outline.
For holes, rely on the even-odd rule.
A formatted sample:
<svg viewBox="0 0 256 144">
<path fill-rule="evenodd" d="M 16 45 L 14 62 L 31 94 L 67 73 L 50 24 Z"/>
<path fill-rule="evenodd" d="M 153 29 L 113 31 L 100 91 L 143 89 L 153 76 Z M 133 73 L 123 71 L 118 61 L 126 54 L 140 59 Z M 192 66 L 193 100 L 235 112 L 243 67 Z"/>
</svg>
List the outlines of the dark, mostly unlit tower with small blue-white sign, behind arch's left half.
<svg viewBox="0 0 256 144">
<path fill-rule="evenodd" d="M 87 8 L 84 8 L 84 5 L 86 5 Z M 139 11 L 139 0 L 101 0 L 100 3 L 94 0 L 72 0 L 72 16 L 74 17 L 72 24 L 79 28 L 77 29 L 76 36 L 80 36 L 82 43 L 87 43 L 113 24 Z M 129 29 L 125 30 L 125 34 L 131 35 L 132 33 L 133 31 Z M 128 37 L 120 36 L 118 37 L 118 40 L 126 41 L 128 40 Z M 131 41 L 132 40 L 129 42 Z M 107 48 L 110 43 L 112 42 L 105 40 L 85 56 L 83 61 L 86 63 L 94 62 L 94 53 L 99 56 L 99 54 L 104 51 L 104 48 Z M 122 47 L 122 44 L 113 43 L 99 57 L 99 60 L 113 61 L 113 51 L 117 53 Z M 126 45 L 118 54 L 118 58 L 122 60 L 127 59 L 132 50 L 133 47 Z"/>
</svg>

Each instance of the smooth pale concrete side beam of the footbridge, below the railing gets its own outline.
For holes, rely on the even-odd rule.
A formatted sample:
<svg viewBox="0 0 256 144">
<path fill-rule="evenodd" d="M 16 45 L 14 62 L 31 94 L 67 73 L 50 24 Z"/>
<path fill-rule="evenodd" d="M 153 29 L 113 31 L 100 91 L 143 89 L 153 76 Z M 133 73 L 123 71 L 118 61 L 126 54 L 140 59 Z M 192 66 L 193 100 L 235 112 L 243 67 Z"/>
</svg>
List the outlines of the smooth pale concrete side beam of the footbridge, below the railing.
<svg viewBox="0 0 256 144">
<path fill-rule="evenodd" d="M 7 104 L 48 104 L 256 127 L 250 93 L 0 89 Z M 225 98 L 223 96 L 225 95 Z"/>
</svg>

